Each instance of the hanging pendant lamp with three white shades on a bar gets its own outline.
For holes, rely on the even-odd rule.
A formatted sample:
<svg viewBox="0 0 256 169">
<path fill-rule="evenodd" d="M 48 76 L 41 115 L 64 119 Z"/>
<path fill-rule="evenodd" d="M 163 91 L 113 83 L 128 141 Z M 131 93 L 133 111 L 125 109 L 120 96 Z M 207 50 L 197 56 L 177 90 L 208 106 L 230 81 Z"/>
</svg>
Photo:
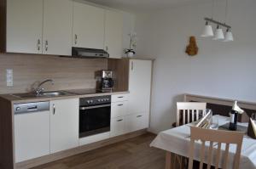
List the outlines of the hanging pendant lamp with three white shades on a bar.
<svg viewBox="0 0 256 169">
<path fill-rule="evenodd" d="M 214 11 L 214 6 L 215 6 L 215 0 L 212 0 L 212 19 L 210 19 L 210 18 L 204 19 L 204 20 L 206 20 L 206 25 L 205 25 L 203 33 L 201 34 L 201 37 L 213 37 L 212 38 L 213 40 L 220 40 L 223 42 L 234 41 L 234 37 L 231 32 L 231 26 L 226 25 L 226 20 L 227 20 L 227 15 L 228 15 L 228 3 L 229 3 L 228 0 L 226 0 L 225 22 L 222 23 L 217 20 L 213 20 L 213 11 Z M 215 33 L 213 33 L 212 25 L 210 25 L 210 23 L 217 25 Z M 225 35 L 224 35 L 222 27 L 226 28 Z"/>
</svg>

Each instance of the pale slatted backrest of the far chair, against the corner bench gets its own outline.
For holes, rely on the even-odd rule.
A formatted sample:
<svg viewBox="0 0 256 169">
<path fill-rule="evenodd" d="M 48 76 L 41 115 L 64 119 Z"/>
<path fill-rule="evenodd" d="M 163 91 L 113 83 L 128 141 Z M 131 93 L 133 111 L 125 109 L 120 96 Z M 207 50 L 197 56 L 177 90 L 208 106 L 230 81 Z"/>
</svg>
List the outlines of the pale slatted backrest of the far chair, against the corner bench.
<svg viewBox="0 0 256 169">
<path fill-rule="evenodd" d="M 204 113 L 206 109 L 207 103 L 177 102 L 176 126 L 178 127 L 189 122 L 197 121 L 199 119 L 199 113 Z M 180 124 L 180 117 L 183 119 L 183 124 Z"/>
</svg>

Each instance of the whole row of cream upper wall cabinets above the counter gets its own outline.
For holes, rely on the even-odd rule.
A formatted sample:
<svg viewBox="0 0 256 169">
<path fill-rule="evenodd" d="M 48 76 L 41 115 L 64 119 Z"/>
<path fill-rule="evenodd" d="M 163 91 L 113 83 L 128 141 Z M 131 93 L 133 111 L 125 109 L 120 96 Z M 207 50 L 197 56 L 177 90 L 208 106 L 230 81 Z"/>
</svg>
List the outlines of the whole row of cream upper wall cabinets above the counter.
<svg viewBox="0 0 256 169">
<path fill-rule="evenodd" d="M 72 47 L 97 48 L 110 58 L 123 54 L 124 14 L 82 0 L 3 0 L 1 52 L 72 55 Z M 3 23 L 3 24 L 2 24 Z M 125 26 L 126 27 L 126 26 Z"/>
</svg>

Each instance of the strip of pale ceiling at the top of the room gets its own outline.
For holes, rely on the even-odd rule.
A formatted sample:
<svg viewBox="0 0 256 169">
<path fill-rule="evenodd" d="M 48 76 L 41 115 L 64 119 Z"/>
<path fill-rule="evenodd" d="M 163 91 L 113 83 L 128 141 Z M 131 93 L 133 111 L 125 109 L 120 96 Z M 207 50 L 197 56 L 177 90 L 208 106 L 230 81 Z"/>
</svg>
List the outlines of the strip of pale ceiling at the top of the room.
<svg viewBox="0 0 256 169">
<path fill-rule="evenodd" d="M 164 8 L 189 5 L 193 3 L 206 3 L 212 0 L 86 0 L 110 8 L 119 8 L 126 11 L 146 12 Z"/>
</svg>

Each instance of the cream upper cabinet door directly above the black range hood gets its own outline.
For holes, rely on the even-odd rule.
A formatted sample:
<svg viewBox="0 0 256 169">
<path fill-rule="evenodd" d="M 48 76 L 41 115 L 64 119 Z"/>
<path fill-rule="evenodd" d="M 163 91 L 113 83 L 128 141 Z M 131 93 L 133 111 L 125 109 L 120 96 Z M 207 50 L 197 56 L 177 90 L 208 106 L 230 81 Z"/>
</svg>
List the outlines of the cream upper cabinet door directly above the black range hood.
<svg viewBox="0 0 256 169">
<path fill-rule="evenodd" d="M 103 49 L 104 15 L 103 8 L 74 2 L 73 47 Z"/>
</svg>

